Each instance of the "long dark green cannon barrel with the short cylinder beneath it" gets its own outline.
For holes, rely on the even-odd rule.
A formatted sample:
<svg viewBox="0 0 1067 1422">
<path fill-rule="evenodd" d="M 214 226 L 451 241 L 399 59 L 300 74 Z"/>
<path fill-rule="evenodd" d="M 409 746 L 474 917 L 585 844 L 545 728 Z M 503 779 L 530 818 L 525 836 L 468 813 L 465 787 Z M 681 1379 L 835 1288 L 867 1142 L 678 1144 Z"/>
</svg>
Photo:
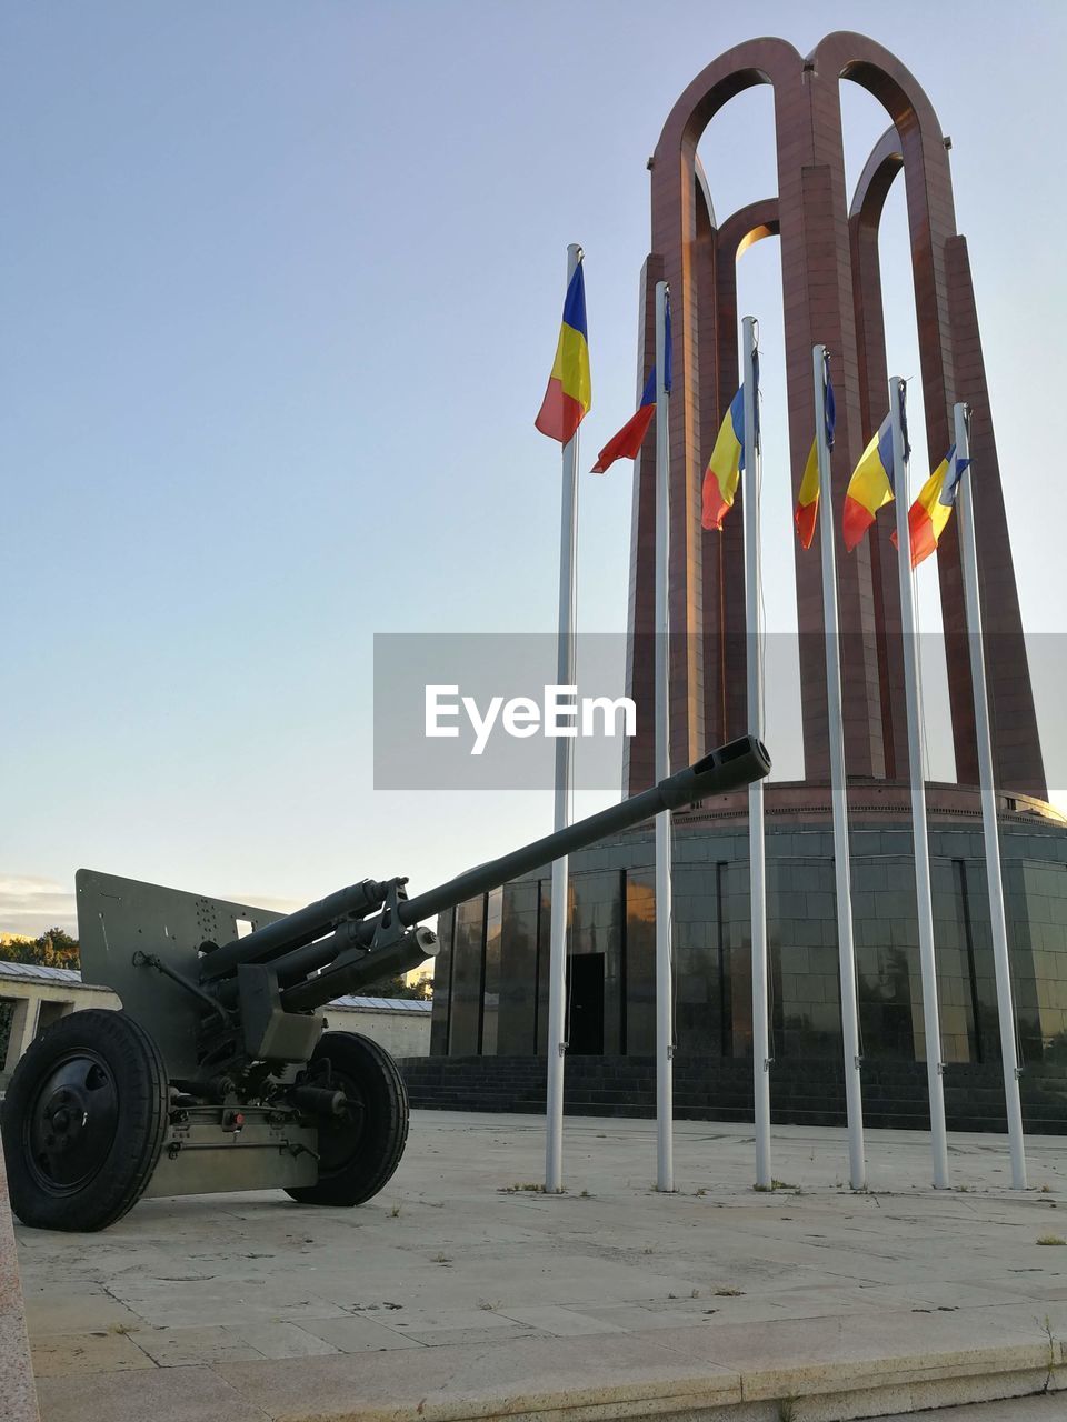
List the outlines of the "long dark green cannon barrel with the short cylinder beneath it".
<svg viewBox="0 0 1067 1422">
<path fill-rule="evenodd" d="M 428 919 L 458 903 L 465 903 L 468 899 L 475 899 L 489 889 L 498 889 L 509 879 L 529 873 L 531 869 L 539 869 L 576 849 L 585 849 L 586 845 L 596 843 L 606 835 L 630 829 L 662 811 L 680 809 L 694 801 L 724 795 L 728 791 L 751 785 L 753 781 L 763 779 L 770 768 L 771 759 L 767 749 L 755 737 L 745 735 L 738 741 L 730 741 L 640 795 L 632 795 L 619 805 L 610 805 L 607 809 L 598 811 L 596 815 L 589 815 L 565 829 L 545 835 L 543 839 L 535 839 L 532 845 L 524 845 L 522 849 L 515 849 L 509 855 L 468 869 L 437 889 L 415 894 L 414 899 L 401 899 L 397 904 L 397 919 L 404 927 L 411 927 L 421 919 Z M 367 941 L 370 941 L 376 921 L 367 923 Z M 243 941 L 248 943 L 249 939 Z M 408 966 L 417 967 L 418 961 L 420 958 L 415 958 Z M 286 988 L 282 993 L 282 1005 L 290 1012 L 307 1011 L 373 983 L 376 977 L 388 971 L 393 971 L 393 967 L 386 964 L 384 954 L 378 957 L 377 953 L 368 953 L 356 963 L 326 967 L 314 977 Z"/>
</svg>

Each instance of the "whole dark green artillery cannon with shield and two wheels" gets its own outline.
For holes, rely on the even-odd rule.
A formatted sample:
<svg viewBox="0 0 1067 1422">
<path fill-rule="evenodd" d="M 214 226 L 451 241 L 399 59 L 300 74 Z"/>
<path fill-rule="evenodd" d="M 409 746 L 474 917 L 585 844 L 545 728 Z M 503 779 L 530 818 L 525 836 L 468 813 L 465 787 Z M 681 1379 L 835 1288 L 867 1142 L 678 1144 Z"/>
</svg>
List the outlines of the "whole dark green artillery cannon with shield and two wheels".
<svg viewBox="0 0 1067 1422">
<path fill-rule="evenodd" d="M 101 1230 L 142 1194 L 272 1187 L 361 1204 L 400 1163 L 407 1094 L 388 1052 L 314 1010 L 432 957 L 423 919 L 768 771 L 731 741 L 428 893 L 364 879 L 287 916 L 78 870 L 83 973 L 122 1010 L 61 1018 L 18 1064 L 0 1122 L 16 1214 Z"/>
</svg>

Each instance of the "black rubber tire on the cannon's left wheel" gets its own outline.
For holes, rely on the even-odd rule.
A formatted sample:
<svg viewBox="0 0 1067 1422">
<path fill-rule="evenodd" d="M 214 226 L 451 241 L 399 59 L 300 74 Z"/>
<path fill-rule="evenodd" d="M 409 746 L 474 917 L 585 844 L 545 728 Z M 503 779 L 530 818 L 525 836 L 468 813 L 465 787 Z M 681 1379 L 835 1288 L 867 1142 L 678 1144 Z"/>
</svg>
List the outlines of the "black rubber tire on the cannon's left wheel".
<svg viewBox="0 0 1067 1422">
<path fill-rule="evenodd" d="M 84 1071 L 83 1071 L 84 1066 Z M 85 1170 L 63 1180 L 65 1159 L 40 1153 L 40 1132 L 50 1084 L 84 1075 L 105 1105 L 83 1156 Z M 104 1230 L 137 1203 L 159 1159 L 166 1132 L 166 1071 L 148 1032 L 127 1017 L 88 1008 L 61 1017 L 26 1052 L 14 1069 L 0 1115 L 11 1209 L 40 1230 Z M 67 1158 L 68 1159 L 68 1158 Z M 81 1159 L 81 1158 L 80 1158 Z"/>
</svg>

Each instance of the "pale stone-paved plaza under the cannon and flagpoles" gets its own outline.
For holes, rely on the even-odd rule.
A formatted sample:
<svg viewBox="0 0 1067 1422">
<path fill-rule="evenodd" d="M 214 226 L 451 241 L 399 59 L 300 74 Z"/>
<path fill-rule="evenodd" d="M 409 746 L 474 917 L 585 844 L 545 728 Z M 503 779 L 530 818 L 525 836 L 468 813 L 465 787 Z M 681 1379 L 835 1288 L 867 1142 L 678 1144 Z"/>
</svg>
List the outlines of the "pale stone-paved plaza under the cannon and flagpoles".
<svg viewBox="0 0 1067 1422">
<path fill-rule="evenodd" d="M 546 1197 L 543 1119 L 415 1112 L 357 1210 L 270 1192 L 147 1200 L 102 1234 L 18 1229 L 44 1422 L 538 1416 L 815 1419 L 966 1408 L 1067 1418 L 1067 1149 L 871 1132 L 854 1194 L 842 1130 L 568 1119 Z M 1060 1213 L 1063 1212 L 1063 1213 Z M 1041 1243 L 1041 1241 L 1047 1243 Z M 1053 1243 L 1057 1241 L 1057 1243 Z M 949 1413 L 942 1413 L 947 1418 Z"/>
</svg>

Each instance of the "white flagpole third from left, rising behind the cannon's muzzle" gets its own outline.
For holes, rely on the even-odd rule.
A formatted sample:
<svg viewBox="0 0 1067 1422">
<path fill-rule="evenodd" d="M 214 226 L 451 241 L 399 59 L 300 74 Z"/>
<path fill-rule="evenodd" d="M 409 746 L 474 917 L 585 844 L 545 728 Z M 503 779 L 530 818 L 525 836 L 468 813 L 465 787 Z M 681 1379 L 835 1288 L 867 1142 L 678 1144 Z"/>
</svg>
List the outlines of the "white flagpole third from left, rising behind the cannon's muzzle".
<svg viewBox="0 0 1067 1422">
<path fill-rule="evenodd" d="M 760 441 L 755 435 L 755 317 L 745 316 L 744 356 L 744 600 L 748 665 L 748 734 L 764 739 L 763 631 L 760 627 Z M 755 1185 L 771 1179 L 771 1042 L 767 1010 L 767 860 L 763 781 L 748 786 L 748 869 L 753 939 L 753 1091 L 755 1098 Z"/>
</svg>

